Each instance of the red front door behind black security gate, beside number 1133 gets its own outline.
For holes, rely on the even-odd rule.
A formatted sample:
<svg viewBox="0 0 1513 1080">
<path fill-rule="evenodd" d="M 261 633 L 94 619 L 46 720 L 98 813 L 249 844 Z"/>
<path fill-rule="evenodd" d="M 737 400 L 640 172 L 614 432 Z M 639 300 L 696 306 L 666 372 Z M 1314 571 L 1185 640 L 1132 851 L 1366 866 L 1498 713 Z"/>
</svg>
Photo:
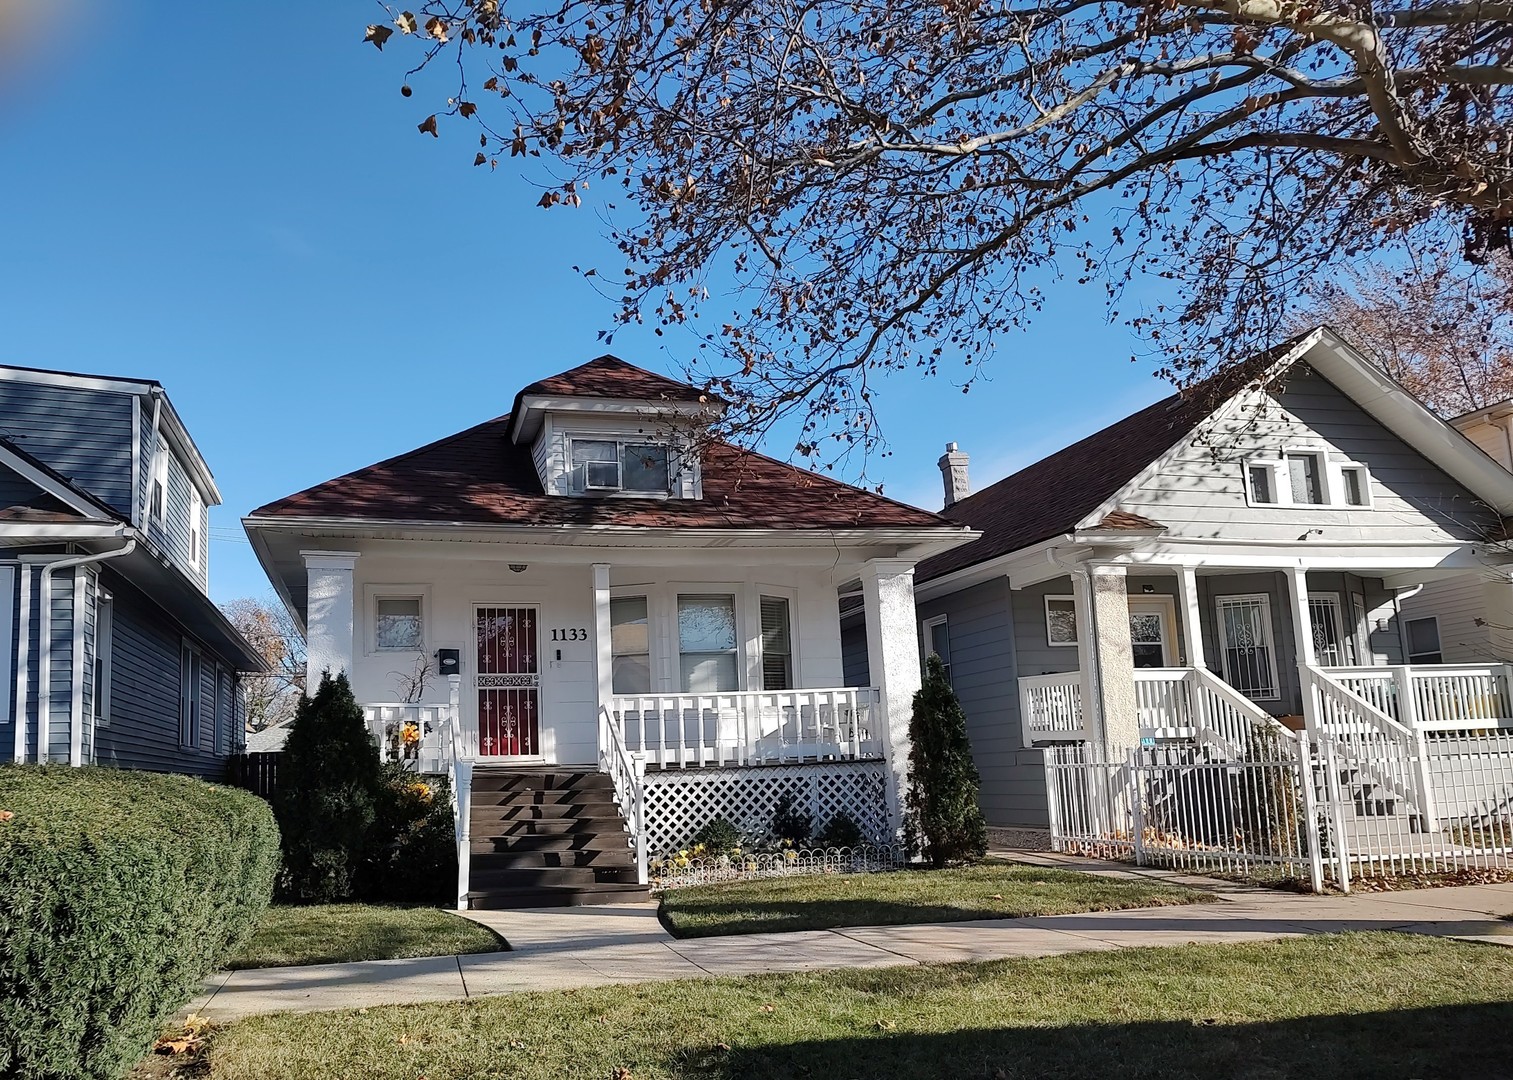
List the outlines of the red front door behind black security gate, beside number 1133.
<svg viewBox="0 0 1513 1080">
<path fill-rule="evenodd" d="M 542 667 L 536 608 L 477 610 L 478 753 L 539 758 Z"/>
</svg>

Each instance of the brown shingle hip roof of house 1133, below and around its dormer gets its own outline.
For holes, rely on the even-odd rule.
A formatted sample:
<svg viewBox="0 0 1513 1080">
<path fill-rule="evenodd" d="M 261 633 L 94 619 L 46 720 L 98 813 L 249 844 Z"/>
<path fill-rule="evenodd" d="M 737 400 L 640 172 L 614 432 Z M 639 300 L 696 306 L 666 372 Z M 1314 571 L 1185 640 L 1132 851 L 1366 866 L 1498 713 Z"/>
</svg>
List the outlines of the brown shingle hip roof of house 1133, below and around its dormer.
<svg viewBox="0 0 1513 1080">
<path fill-rule="evenodd" d="M 551 381 L 542 380 L 536 386 Z M 929 511 L 723 442 L 713 442 L 704 451 L 704 499 L 546 495 L 536 475 L 531 448 L 513 443 L 508 431 L 510 416 L 499 416 L 269 502 L 254 510 L 253 516 L 707 529 L 950 525 Z"/>
</svg>

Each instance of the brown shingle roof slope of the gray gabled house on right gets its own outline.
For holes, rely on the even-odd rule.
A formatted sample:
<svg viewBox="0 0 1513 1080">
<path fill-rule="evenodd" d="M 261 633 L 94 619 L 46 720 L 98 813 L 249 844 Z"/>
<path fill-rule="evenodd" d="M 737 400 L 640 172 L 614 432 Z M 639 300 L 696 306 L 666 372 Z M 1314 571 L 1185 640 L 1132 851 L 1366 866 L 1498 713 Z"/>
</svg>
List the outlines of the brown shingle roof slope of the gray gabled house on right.
<svg viewBox="0 0 1513 1080">
<path fill-rule="evenodd" d="M 941 578 L 1071 532 L 1083 517 L 1135 479 L 1141 469 L 1182 442 L 1309 333 L 1313 331 L 1232 365 L 949 507 L 943 511 L 946 517 L 980 529 L 982 537 L 924 560 L 915 570 L 915 579 Z M 1145 522 L 1120 528 L 1160 525 Z"/>
</svg>

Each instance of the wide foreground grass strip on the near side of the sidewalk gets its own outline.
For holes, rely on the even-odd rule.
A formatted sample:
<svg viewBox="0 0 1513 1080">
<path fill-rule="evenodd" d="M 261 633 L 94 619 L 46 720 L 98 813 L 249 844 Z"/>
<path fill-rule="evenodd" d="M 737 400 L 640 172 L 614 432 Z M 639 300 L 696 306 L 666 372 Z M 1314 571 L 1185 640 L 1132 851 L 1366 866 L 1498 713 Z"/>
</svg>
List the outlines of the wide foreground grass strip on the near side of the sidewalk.
<svg viewBox="0 0 1513 1080">
<path fill-rule="evenodd" d="M 254 1016 L 216 1030 L 207 1063 L 216 1080 L 1495 1077 L 1510 994 L 1513 950 L 1321 935 Z"/>
</svg>

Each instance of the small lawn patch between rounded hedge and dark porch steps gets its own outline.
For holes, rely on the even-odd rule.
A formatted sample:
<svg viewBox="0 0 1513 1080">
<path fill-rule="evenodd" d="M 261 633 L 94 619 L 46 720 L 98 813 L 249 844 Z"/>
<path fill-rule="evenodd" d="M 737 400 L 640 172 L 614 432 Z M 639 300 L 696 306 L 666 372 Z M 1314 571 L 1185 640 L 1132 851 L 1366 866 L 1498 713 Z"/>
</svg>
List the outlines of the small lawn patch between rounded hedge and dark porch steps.
<svg viewBox="0 0 1513 1080">
<path fill-rule="evenodd" d="M 493 953 L 508 948 L 493 930 L 437 908 L 333 903 L 274 906 L 228 968 L 389 961 L 405 956 Z"/>
</svg>

